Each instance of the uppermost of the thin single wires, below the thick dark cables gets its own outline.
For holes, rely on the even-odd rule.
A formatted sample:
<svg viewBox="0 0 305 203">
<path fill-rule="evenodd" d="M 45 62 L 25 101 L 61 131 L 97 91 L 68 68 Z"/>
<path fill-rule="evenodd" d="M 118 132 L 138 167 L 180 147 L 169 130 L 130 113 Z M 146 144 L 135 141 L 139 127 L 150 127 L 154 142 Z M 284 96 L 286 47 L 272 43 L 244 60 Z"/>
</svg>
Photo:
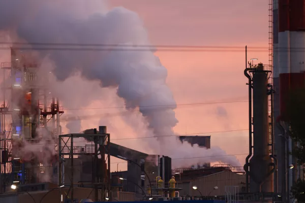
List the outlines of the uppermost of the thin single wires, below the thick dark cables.
<svg viewBox="0 0 305 203">
<path fill-rule="evenodd" d="M 171 104 L 171 105 L 148 105 L 148 106 L 127 106 L 127 107 L 98 107 L 98 108 L 75 108 L 65 110 L 93 110 L 93 109 L 128 109 L 128 108 L 145 108 L 145 107 L 170 107 L 170 106 L 190 106 L 190 105 L 212 105 L 212 104 L 229 104 L 229 103 L 244 103 L 248 100 L 236 100 L 236 101 L 217 101 L 206 103 L 188 103 L 188 104 Z"/>
</svg>

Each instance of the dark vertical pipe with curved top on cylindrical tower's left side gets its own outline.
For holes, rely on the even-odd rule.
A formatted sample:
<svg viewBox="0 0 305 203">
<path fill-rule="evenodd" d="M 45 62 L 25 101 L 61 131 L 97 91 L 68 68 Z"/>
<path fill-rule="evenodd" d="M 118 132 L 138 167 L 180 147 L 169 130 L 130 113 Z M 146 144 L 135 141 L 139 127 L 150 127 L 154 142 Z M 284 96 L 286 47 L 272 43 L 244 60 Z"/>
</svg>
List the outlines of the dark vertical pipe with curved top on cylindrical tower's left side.
<svg viewBox="0 0 305 203">
<path fill-rule="evenodd" d="M 247 55 L 247 46 L 246 46 L 246 55 Z M 247 58 L 247 56 L 246 56 Z M 249 79 L 248 85 L 248 91 L 249 91 L 249 155 L 246 157 L 246 164 L 244 168 L 247 168 L 246 171 L 246 192 L 249 192 L 249 159 L 252 156 L 252 79 L 251 76 L 247 73 L 248 69 L 246 67 L 245 71 L 243 71 L 243 74 Z"/>
</svg>

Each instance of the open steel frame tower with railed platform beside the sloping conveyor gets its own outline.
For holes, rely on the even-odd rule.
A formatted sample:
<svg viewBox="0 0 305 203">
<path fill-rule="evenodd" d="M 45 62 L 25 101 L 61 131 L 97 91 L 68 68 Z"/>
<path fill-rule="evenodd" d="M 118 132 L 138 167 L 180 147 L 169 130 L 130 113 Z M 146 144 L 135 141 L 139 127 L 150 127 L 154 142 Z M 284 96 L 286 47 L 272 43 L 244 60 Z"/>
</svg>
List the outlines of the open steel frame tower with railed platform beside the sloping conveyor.
<svg viewBox="0 0 305 203">
<path fill-rule="evenodd" d="M 95 192 L 95 200 L 105 201 L 108 197 L 111 199 L 111 182 L 110 182 L 110 134 L 106 133 L 106 127 L 100 126 L 99 133 L 94 129 L 94 134 L 65 134 L 59 136 L 59 185 L 67 186 L 65 174 L 70 175 L 70 185 L 67 192 L 71 199 L 74 198 L 74 165 L 73 160 L 77 155 L 87 155 L 93 158 L 92 167 L 92 188 Z M 74 146 L 75 138 L 85 138 L 92 141 L 92 145 Z M 70 159 L 70 170 L 65 169 L 65 159 Z M 106 164 L 107 163 L 107 164 Z M 101 191 L 101 199 L 98 199 L 99 191 Z M 66 196 L 66 198 L 67 198 Z"/>
</svg>

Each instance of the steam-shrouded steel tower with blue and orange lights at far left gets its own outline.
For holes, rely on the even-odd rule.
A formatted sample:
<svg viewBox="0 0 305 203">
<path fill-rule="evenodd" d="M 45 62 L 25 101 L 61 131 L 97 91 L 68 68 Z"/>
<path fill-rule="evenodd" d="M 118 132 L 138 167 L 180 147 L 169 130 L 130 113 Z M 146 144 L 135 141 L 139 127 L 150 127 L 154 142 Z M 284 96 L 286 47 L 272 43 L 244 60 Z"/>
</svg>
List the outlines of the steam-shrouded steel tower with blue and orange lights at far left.
<svg viewBox="0 0 305 203">
<path fill-rule="evenodd" d="M 31 52 L 11 48 L 11 62 L 1 63 L 4 100 L 0 108 L 0 192 L 5 192 L 13 182 L 39 182 L 33 176 L 33 170 L 44 173 L 47 167 L 51 167 L 51 163 L 42 165 L 38 160 L 22 160 L 18 156 L 18 149 L 23 147 L 22 140 L 26 140 L 27 145 L 38 144 L 42 139 L 37 136 L 38 127 L 45 127 L 52 134 L 56 140 L 55 143 L 52 140 L 54 144 L 61 134 L 59 117 L 64 113 L 63 108 L 45 87 L 47 81 L 38 81 L 38 65 L 33 59 Z M 49 122 L 52 123 L 51 129 L 47 128 Z M 25 167 L 25 163 L 32 166 Z"/>
</svg>

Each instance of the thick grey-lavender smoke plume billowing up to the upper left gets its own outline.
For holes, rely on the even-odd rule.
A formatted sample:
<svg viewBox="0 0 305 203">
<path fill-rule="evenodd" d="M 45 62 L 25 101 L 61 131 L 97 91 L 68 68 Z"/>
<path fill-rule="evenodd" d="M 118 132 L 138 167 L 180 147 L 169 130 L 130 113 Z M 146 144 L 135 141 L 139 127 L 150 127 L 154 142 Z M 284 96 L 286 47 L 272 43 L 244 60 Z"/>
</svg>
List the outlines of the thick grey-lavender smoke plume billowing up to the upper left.
<svg viewBox="0 0 305 203">
<path fill-rule="evenodd" d="M 184 165 L 192 161 L 192 164 L 194 161 L 221 161 L 239 165 L 235 157 L 219 156 L 225 155 L 219 148 L 206 150 L 181 144 L 174 136 L 163 137 L 174 134 L 173 127 L 178 122 L 174 112 L 176 103 L 166 85 L 167 70 L 154 55 L 154 50 L 136 51 L 138 48 L 133 47 L 150 44 L 143 22 L 136 13 L 125 8 L 108 10 L 103 4 L 98 7 L 101 1 L 65 1 L 65 4 L 59 0 L 0 2 L 0 30 L 12 30 L 11 37 L 16 41 L 78 44 L 44 45 L 36 51 L 42 59 L 48 58 L 53 62 L 52 73 L 59 81 L 80 73 L 82 80 L 98 82 L 101 87 L 116 88 L 117 95 L 129 107 L 127 110 L 138 109 L 147 122 L 149 132 L 162 138 L 147 140 L 156 153 L 173 158 L 206 157 L 179 161 Z M 103 46 L 109 44 L 117 46 Z M 95 92 L 99 92 L 97 87 Z M 70 94 L 70 91 L 65 94 Z M 89 98 L 78 96 L 79 100 L 88 101 L 91 95 L 87 95 Z M 79 104 L 78 108 L 81 105 L 84 104 Z M 155 110 L 148 106 L 159 107 Z"/>
</svg>

